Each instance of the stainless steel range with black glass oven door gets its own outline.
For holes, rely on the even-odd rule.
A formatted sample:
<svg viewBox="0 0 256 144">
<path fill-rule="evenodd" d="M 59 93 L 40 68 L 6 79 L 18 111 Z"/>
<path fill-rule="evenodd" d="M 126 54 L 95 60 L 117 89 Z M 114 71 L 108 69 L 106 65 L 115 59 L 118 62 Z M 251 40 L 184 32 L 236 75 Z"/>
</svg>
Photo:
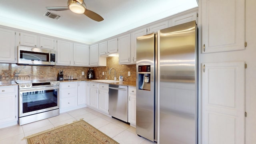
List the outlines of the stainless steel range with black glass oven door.
<svg viewBox="0 0 256 144">
<path fill-rule="evenodd" d="M 59 81 L 33 80 L 16 81 L 16 83 L 19 84 L 19 125 L 60 114 Z"/>
</svg>

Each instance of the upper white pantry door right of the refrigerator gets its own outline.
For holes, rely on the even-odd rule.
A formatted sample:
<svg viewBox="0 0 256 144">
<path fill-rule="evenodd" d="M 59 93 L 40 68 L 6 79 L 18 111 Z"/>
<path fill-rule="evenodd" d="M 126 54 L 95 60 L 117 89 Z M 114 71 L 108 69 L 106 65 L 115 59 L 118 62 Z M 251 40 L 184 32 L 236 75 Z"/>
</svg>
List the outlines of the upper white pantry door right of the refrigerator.
<svg viewBox="0 0 256 144">
<path fill-rule="evenodd" d="M 202 53 L 244 50 L 245 0 L 202 0 Z"/>
</svg>

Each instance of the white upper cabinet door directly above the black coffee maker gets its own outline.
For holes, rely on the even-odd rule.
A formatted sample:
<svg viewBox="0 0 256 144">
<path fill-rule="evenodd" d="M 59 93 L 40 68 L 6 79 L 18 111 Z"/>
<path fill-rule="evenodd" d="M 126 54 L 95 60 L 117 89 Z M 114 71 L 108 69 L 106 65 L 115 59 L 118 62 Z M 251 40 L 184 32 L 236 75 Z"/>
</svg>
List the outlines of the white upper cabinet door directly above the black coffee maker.
<svg viewBox="0 0 256 144">
<path fill-rule="evenodd" d="M 90 66 L 97 66 L 99 64 L 99 45 L 94 44 L 90 46 Z"/>
</svg>

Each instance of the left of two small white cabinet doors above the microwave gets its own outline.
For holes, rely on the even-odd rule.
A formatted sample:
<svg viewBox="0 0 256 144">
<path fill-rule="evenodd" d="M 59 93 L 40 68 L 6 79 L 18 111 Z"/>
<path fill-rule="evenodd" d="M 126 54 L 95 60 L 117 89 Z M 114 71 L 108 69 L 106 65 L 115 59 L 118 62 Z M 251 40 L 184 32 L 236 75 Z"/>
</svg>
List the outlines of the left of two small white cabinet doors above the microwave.
<svg viewBox="0 0 256 144">
<path fill-rule="evenodd" d="M 20 45 L 37 47 L 37 35 L 21 32 Z"/>
</svg>

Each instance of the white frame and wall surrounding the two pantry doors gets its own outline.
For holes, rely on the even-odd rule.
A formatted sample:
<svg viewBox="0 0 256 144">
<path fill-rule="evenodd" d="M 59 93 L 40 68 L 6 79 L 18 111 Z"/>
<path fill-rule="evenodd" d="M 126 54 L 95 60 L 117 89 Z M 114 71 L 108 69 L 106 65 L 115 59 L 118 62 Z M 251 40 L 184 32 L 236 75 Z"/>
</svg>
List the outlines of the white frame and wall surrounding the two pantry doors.
<svg viewBox="0 0 256 144">
<path fill-rule="evenodd" d="M 201 2 L 199 1 L 199 4 Z M 202 124 L 202 62 L 227 62 L 227 61 L 245 61 L 247 68 L 245 69 L 245 110 L 247 117 L 245 118 L 245 140 L 246 144 L 254 144 L 256 142 L 256 0 L 246 0 L 245 12 L 245 36 L 247 47 L 245 50 L 232 52 L 216 52 L 211 54 L 199 54 L 199 124 Z M 201 33 L 201 9 L 199 8 L 199 34 Z M 199 37 L 199 52 L 201 52 L 202 42 Z M 199 142 L 201 143 L 201 126 L 199 126 Z"/>
</svg>

